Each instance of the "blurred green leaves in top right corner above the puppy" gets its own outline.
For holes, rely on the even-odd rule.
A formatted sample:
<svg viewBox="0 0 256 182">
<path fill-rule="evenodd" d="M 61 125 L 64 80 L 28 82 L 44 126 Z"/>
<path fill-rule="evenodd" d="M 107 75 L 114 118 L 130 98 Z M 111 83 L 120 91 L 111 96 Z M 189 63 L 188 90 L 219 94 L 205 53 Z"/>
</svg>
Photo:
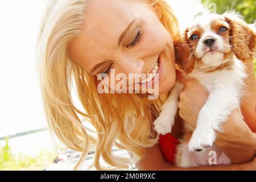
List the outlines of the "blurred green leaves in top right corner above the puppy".
<svg viewBox="0 0 256 182">
<path fill-rule="evenodd" d="M 209 3 L 215 3 L 218 14 L 234 9 L 245 17 L 247 23 L 254 23 L 256 20 L 255 0 L 201 0 L 201 2 L 205 7 L 208 7 Z"/>
</svg>

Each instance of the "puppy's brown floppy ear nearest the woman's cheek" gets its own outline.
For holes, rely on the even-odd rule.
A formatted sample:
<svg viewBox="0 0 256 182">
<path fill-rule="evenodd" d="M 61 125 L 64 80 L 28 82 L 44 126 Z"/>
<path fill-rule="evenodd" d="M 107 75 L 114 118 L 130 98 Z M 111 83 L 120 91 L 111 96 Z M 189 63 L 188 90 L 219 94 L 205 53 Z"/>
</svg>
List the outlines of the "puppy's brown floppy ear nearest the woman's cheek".
<svg viewBox="0 0 256 182">
<path fill-rule="evenodd" d="M 196 62 L 196 58 L 192 54 L 191 47 L 189 46 L 187 36 L 188 28 L 181 36 L 174 39 L 176 64 L 185 75 L 193 71 Z"/>
</svg>

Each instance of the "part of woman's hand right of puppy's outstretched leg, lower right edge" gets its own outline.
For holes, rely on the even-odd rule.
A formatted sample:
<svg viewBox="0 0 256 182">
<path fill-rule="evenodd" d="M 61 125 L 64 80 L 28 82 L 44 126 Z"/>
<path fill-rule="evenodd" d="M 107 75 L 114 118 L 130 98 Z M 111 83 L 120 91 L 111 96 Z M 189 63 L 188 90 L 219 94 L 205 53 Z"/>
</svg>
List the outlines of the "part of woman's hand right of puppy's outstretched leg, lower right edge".
<svg viewBox="0 0 256 182">
<path fill-rule="evenodd" d="M 243 121 L 240 111 L 234 110 L 222 126 L 224 132 L 218 134 L 217 146 L 229 156 L 232 163 L 252 160 L 256 156 L 256 134 Z"/>
</svg>

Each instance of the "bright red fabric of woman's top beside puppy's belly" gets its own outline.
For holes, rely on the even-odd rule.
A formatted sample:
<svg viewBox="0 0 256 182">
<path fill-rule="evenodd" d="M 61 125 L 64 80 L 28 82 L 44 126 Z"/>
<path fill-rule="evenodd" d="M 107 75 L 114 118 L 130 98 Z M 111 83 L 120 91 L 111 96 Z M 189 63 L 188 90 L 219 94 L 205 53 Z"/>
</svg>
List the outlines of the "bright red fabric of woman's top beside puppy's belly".
<svg viewBox="0 0 256 182">
<path fill-rule="evenodd" d="M 161 148 L 164 159 L 166 159 L 167 162 L 174 164 L 176 147 L 179 143 L 179 140 L 174 138 L 174 136 L 172 136 L 170 133 L 166 135 L 160 135 L 159 146 Z"/>
</svg>

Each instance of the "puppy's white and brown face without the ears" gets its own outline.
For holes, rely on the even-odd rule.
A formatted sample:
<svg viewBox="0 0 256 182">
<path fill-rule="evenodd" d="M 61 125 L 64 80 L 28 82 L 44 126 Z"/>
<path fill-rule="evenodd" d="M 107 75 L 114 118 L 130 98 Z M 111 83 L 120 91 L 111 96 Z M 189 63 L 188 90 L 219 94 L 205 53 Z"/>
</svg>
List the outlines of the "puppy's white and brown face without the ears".
<svg viewBox="0 0 256 182">
<path fill-rule="evenodd" d="M 221 15 L 200 16 L 187 29 L 187 41 L 197 61 L 217 66 L 230 55 L 230 25 Z"/>
</svg>

